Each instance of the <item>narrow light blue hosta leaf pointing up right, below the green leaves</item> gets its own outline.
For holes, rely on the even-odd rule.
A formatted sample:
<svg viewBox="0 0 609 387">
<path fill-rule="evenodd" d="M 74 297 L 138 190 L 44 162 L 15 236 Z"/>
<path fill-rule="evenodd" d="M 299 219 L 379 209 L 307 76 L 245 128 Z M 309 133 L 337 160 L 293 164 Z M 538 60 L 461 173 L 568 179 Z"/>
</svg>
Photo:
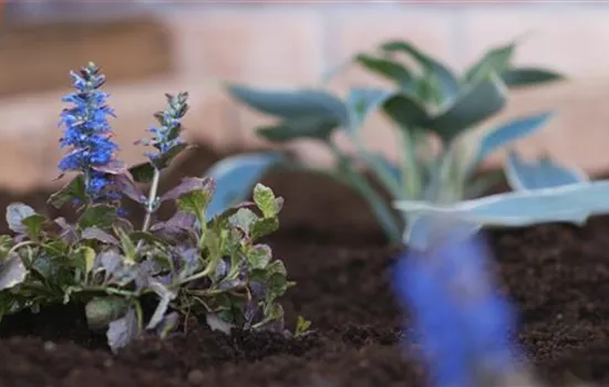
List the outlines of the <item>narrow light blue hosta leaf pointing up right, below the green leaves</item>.
<svg viewBox="0 0 609 387">
<path fill-rule="evenodd" d="M 514 118 L 488 132 L 481 140 L 476 164 L 482 163 L 495 150 L 505 147 L 507 144 L 540 129 L 553 115 L 551 112 L 544 112 L 526 117 Z"/>
</svg>

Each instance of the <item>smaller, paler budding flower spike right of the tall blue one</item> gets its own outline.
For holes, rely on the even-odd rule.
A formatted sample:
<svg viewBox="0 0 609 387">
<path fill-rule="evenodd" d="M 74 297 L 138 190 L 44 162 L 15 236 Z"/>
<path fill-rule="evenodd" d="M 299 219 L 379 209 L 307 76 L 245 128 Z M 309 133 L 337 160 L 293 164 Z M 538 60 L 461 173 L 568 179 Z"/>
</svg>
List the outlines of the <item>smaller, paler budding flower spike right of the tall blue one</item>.
<svg viewBox="0 0 609 387">
<path fill-rule="evenodd" d="M 161 126 L 148 129 L 153 134 L 153 138 L 140 142 L 156 148 L 155 153 L 146 153 L 146 156 L 158 169 L 164 167 L 166 158 L 172 158 L 173 154 L 179 153 L 184 148 L 185 144 L 180 138 L 180 121 L 188 111 L 186 103 L 188 93 L 182 92 L 177 96 L 171 94 L 165 96 L 169 105 L 168 108 L 154 115 Z"/>
</svg>

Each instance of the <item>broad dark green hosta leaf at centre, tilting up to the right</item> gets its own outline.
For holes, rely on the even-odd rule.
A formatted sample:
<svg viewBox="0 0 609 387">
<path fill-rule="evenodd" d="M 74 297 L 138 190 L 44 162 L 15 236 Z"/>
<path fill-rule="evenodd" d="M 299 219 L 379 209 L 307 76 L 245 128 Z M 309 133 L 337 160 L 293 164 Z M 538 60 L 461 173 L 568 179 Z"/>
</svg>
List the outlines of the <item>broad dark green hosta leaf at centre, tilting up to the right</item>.
<svg viewBox="0 0 609 387">
<path fill-rule="evenodd" d="M 450 144 L 463 132 L 503 109 L 507 101 L 506 87 L 494 74 L 472 85 L 454 102 L 432 117 L 424 128 Z"/>
</svg>

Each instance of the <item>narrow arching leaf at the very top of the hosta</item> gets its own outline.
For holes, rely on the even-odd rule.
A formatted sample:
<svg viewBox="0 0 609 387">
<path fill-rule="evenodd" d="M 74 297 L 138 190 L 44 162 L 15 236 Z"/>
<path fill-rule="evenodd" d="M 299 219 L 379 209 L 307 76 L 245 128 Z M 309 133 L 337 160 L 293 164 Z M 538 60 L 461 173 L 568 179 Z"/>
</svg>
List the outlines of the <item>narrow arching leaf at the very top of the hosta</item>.
<svg viewBox="0 0 609 387">
<path fill-rule="evenodd" d="M 414 57 L 427 73 L 436 80 L 442 91 L 442 102 L 451 101 L 458 94 L 460 82 L 448 67 L 437 62 L 433 57 L 424 54 L 413 44 L 404 41 L 393 41 L 381 45 L 381 50 L 385 52 L 405 52 Z"/>
</svg>

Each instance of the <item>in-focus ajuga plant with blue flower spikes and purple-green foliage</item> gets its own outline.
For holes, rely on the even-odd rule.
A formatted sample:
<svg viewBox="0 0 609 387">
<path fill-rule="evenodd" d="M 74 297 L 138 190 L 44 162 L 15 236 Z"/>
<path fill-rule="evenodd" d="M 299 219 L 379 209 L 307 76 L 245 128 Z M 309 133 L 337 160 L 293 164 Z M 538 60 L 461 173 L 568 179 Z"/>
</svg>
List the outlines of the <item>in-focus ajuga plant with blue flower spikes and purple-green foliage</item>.
<svg viewBox="0 0 609 387">
<path fill-rule="evenodd" d="M 73 178 L 49 202 L 75 206 L 78 219 L 48 219 L 20 202 L 7 208 L 12 234 L 0 237 L 0 318 L 53 303 L 80 304 L 90 328 L 105 330 L 114 351 L 146 330 L 164 337 L 187 314 L 225 332 L 283 332 L 278 299 L 293 283 L 270 248 L 258 243 L 277 230 L 283 200 L 257 184 L 252 201 L 235 203 L 251 194 L 275 158 L 220 160 L 209 176 L 184 178 L 159 195 L 162 171 L 187 148 L 182 139 L 187 94 L 167 95 L 152 137 L 140 142 L 153 149 L 148 160 L 130 168 L 113 142 L 104 75 L 90 63 L 72 80 L 75 91 L 63 98 L 71 106 L 61 113 L 60 144 L 68 150 L 59 167 Z M 121 216 L 124 200 L 145 208 L 143 224 Z M 175 213 L 157 219 L 158 207 L 168 201 Z M 300 320 L 297 333 L 306 324 Z"/>
</svg>

